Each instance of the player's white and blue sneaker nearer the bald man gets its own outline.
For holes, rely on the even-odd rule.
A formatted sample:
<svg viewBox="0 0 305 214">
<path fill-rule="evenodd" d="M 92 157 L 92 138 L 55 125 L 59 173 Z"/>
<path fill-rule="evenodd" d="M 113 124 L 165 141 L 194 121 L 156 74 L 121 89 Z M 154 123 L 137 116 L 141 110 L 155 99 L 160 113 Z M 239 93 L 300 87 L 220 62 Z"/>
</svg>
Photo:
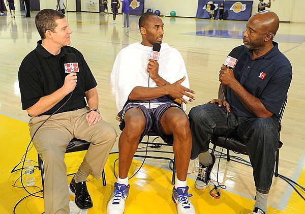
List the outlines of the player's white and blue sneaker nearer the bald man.
<svg viewBox="0 0 305 214">
<path fill-rule="evenodd" d="M 173 188 L 172 199 L 177 204 L 178 214 L 195 214 L 195 208 L 191 203 L 189 197 L 193 196 L 188 194 L 189 187 L 178 187 Z"/>
</svg>

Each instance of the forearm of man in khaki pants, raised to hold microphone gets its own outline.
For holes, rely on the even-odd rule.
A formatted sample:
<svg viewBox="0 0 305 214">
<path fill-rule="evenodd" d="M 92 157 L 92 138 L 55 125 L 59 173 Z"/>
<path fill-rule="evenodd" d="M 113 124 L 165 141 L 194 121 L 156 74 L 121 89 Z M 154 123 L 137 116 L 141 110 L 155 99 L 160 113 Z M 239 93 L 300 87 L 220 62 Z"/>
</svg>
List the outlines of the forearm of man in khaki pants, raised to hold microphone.
<svg viewBox="0 0 305 214">
<path fill-rule="evenodd" d="M 40 98 L 37 103 L 26 109 L 26 111 L 29 115 L 36 117 L 53 108 L 66 96 L 67 93 L 65 93 L 64 89 L 59 88 L 56 91 L 54 91 L 52 94 Z"/>
</svg>

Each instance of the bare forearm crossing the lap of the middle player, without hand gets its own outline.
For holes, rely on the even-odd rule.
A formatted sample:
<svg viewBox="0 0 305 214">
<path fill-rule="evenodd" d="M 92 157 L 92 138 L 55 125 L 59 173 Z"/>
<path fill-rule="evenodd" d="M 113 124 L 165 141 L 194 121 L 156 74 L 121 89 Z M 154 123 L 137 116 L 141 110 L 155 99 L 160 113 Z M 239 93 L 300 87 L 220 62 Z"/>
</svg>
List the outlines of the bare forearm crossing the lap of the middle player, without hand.
<svg viewBox="0 0 305 214">
<path fill-rule="evenodd" d="M 167 96 L 167 85 L 160 87 L 142 87 L 136 86 L 130 93 L 128 99 L 131 101 L 147 101 L 159 97 Z"/>
</svg>

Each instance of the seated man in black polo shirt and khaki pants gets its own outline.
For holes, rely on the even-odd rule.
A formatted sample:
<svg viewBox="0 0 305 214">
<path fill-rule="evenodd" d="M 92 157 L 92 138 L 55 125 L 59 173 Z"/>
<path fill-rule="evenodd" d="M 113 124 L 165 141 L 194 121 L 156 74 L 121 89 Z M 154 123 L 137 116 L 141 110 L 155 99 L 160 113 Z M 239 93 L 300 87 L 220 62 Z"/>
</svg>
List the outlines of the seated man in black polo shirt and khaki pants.
<svg viewBox="0 0 305 214">
<path fill-rule="evenodd" d="M 95 178 L 101 176 L 116 133 L 101 118 L 97 83 L 83 55 L 67 46 L 71 43 L 72 30 L 65 15 L 45 9 L 37 14 L 35 23 L 42 41 L 38 41 L 37 47 L 23 59 L 19 68 L 19 86 L 22 108 L 32 116 L 29 120 L 31 137 L 38 130 L 33 144 L 45 167 L 45 213 L 70 212 L 64 158 L 72 138 L 91 142 L 70 184 L 76 205 L 87 209 L 93 202 L 85 181 L 89 174 Z M 66 75 L 69 65 L 65 69 L 64 64 L 71 54 L 75 59 L 70 57 L 70 60 L 78 63 L 78 73 Z M 54 115 L 42 125 L 51 114 Z"/>
</svg>

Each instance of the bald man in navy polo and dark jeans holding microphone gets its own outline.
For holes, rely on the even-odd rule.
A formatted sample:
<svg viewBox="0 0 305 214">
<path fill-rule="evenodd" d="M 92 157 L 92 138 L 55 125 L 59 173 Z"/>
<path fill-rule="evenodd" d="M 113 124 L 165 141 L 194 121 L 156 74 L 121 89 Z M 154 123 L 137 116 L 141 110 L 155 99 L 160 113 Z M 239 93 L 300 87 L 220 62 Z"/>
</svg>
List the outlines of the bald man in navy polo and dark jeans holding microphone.
<svg viewBox="0 0 305 214">
<path fill-rule="evenodd" d="M 247 146 L 253 167 L 253 213 L 267 211 L 278 148 L 279 112 L 292 78 L 289 60 L 279 51 L 278 43 L 272 41 L 278 28 L 277 14 L 263 11 L 253 15 L 243 34 L 244 45 L 229 53 L 238 59 L 235 68 L 221 67 L 218 98 L 192 108 L 189 113 L 191 159 L 199 156 L 200 166 L 195 187 L 203 190 L 210 180 L 215 163 L 215 156 L 208 152 L 211 136 L 238 136 Z"/>
</svg>

